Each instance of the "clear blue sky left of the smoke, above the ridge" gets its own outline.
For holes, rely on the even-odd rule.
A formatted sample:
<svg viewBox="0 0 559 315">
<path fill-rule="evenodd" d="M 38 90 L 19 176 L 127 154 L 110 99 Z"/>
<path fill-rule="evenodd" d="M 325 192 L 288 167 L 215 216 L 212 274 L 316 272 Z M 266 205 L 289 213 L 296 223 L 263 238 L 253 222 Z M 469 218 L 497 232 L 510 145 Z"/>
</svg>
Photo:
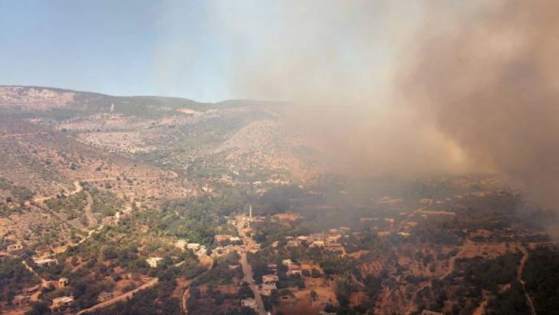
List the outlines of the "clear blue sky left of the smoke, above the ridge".
<svg viewBox="0 0 559 315">
<path fill-rule="evenodd" d="M 0 84 L 201 101 L 233 97 L 222 67 L 226 54 L 208 29 L 205 6 L 0 0 Z M 196 54 L 166 62 L 177 45 L 176 54 Z"/>
</svg>

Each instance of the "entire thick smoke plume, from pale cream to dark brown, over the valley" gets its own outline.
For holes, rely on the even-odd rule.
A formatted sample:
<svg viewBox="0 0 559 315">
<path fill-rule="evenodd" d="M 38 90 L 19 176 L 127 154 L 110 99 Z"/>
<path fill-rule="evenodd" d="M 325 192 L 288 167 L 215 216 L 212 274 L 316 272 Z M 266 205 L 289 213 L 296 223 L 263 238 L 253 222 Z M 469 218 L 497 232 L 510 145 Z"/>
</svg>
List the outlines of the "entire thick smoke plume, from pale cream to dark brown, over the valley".
<svg viewBox="0 0 559 315">
<path fill-rule="evenodd" d="M 295 101 L 290 128 L 340 168 L 495 170 L 557 205 L 557 12 L 553 0 L 215 1 L 205 18 L 235 96 Z"/>
</svg>

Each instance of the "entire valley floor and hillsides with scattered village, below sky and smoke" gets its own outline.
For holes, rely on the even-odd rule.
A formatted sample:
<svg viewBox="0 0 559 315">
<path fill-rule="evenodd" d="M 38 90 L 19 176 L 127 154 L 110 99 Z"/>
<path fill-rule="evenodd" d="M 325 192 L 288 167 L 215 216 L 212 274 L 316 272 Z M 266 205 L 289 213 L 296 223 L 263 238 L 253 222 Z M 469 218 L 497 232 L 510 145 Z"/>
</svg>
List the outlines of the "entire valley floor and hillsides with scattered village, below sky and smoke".
<svg viewBox="0 0 559 315">
<path fill-rule="evenodd" d="M 290 106 L 1 87 L 0 312 L 555 309 L 522 187 L 335 173 Z"/>
</svg>

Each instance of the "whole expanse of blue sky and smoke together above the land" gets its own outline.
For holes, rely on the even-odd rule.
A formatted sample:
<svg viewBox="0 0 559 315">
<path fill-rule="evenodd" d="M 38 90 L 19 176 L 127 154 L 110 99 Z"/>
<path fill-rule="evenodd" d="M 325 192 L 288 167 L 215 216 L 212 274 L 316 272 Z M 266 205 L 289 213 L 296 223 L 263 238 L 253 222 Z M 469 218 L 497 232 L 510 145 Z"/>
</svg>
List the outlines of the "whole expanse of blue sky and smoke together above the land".
<svg viewBox="0 0 559 315">
<path fill-rule="evenodd" d="M 0 5 L 0 84 L 294 101 L 350 171 L 496 170 L 559 203 L 552 1 Z"/>
</svg>

